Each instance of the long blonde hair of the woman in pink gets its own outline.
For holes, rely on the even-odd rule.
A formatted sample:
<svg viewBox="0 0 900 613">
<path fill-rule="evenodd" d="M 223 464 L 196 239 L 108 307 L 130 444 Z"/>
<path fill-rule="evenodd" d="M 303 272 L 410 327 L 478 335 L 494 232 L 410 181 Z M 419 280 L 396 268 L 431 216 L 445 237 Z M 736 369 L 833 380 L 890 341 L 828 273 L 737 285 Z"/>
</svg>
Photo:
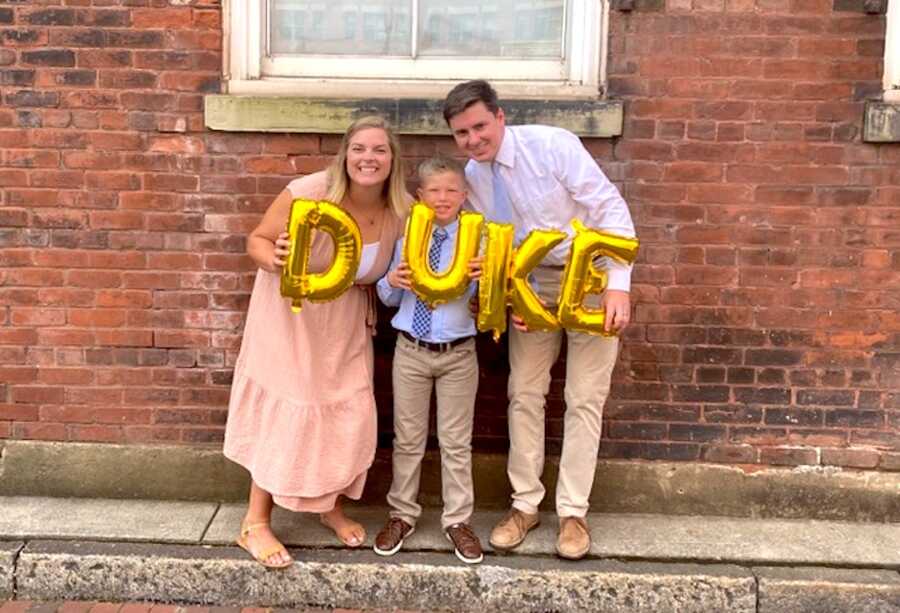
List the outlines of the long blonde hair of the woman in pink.
<svg viewBox="0 0 900 613">
<path fill-rule="evenodd" d="M 341 141 L 341 148 L 328 167 L 328 194 L 326 200 L 340 204 L 350 189 L 350 176 L 347 174 L 347 150 L 350 148 L 350 139 L 360 130 L 378 128 L 384 130 L 388 144 L 391 147 L 391 173 L 384 183 L 384 196 L 388 206 L 400 219 L 404 219 L 409 213 L 409 194 L 406 191 L 406 182 L 403 172 L 403 160 L 400 159 L 400 141 L 391 129 L 390 124 L 383 117 L 367 115 L 360 117 L 347 128 Z"/>
</svg>

